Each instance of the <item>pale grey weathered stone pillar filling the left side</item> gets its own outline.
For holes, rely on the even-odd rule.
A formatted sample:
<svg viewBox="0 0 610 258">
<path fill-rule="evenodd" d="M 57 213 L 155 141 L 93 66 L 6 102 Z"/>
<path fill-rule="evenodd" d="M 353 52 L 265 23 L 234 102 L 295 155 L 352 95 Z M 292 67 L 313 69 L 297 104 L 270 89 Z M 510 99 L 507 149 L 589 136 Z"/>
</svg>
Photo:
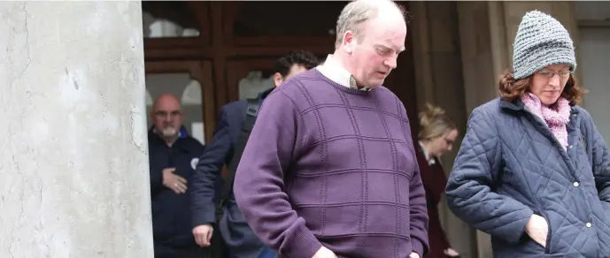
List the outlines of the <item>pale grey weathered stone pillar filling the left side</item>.
<svg viewBox="0 0 610 258">
<path fill-rule="evenodd" d="M 0 17 L 0 257 L 152 257 L 141 4 Z"/>
</svg>

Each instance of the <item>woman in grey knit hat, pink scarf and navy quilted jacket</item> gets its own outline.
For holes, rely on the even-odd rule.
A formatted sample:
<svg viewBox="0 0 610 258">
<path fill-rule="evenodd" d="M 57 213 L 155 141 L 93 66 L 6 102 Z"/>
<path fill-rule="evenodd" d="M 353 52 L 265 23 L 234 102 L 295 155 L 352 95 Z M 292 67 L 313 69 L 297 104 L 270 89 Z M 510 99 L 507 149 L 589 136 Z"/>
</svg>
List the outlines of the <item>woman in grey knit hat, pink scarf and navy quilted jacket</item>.
<svg viewBox="0 0 610 258">
<path fill-rule="evenodd" d="M 500 96 L 468 120 L 447 201 L 494 257 L 610 257 L 610 152 L 577 105 L 575 60 L 566 28 L 529 11 Z"/>
</svg>

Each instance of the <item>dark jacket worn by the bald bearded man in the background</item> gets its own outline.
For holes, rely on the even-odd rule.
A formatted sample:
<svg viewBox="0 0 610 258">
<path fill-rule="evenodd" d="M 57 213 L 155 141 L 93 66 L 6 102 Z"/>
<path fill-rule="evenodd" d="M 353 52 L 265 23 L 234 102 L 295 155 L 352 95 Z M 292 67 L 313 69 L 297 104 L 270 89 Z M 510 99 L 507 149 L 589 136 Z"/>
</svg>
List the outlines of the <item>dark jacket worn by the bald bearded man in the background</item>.
<svg viewBox="0 0 610 258">
<path fill-rule="evenodd" d="M 195 245 L 190 224 L 190 189 L 197 158 L 204 152 L 198 140 L 181 132 L 172 147 L 153 133 L 148 133 L 149 163 L 151 169 L 152 231 L 155 247 L 186 247 Z M 163 186 L 163 171 L 176 168 L 175 175 L 188 181 L 185 194 L 175 194 Z M 157 251 L 156 251 L 157 252 Z"/>
</svg>

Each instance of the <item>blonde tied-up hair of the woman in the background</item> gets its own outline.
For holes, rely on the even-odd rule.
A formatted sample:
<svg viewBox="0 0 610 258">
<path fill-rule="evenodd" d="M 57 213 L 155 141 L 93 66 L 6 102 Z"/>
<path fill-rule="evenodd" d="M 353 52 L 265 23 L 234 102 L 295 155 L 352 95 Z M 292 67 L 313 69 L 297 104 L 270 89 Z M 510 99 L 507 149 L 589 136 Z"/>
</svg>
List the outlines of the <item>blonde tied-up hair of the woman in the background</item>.
<svg viewBox="0 0 610 258">
<path fill-rule="evenodd" d="M 420 118 L 419 140 L 430 140 L 443 136 L 445 133 L 457 129 L 452 119 L 444 114 L 444 110 L 430 103 L 426 103 L 425 110 L 418 116 Z"/>
</svg>

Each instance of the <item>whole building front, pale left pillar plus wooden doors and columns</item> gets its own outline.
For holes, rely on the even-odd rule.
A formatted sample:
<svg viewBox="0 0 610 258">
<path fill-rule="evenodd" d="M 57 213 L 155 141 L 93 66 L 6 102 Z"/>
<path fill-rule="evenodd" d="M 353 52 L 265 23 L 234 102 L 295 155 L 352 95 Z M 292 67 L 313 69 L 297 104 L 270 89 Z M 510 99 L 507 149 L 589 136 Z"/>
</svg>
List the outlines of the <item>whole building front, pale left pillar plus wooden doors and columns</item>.
<svg viewBox="0 0 610 258">
<path fill-rule="evenodd" d="M 498 95 L 498 76 L 511 65 L 521 17 L 544 11 L 572 34 L 575 76 L 590 91 L 583 106 L 610 140 L 606 3 L 400 2 L 411 13 L 407 51 L 386 87 L 405 103 L 413 136 L 425 102 L 447 110 L 463 134 L 470 112 Z M 0 4 L 10 28 L 1 41 L 7 51 L 0 72 L 7 83 L 0 130 L 8 137 L 0 140 L 6 146 L 0 171 L 11 171 L 0 201 L 11 230 L 0 238 L 0 254 L 150 257 L 144 105 L 150 108 L 162 93 L 179 96 L 190 133 L 211 140 L 220 107 L 269 87 L 277 57 L 290 49 L 320 58 L 333 51 L 344 4 Z M 445 171 L 456 153 L 443 157 Z M 462 257 L 491 257 L 489 236 L 463 224 L 446 205 L 441 209 Z"/>
</svg>

